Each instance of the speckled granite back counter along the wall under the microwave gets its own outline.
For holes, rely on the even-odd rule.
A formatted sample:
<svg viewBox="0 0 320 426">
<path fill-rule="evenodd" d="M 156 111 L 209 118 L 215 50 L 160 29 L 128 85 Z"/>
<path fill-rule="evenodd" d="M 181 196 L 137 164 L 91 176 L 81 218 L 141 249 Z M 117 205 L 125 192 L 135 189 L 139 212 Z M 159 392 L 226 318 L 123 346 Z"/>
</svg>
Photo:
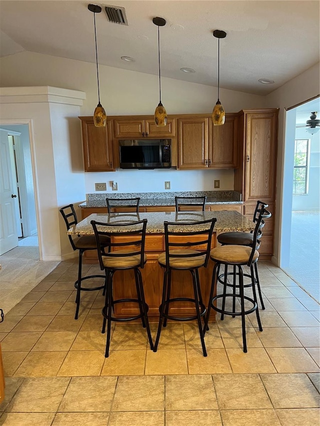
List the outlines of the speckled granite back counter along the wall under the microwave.
<svg viewBox="0 0 320 426">
<path fill-rule="evenodd" d="M 206 204 L 242 204 L 241 194 L 236 191 L 192 191 L 192 192 L 129 192 L 86 194 L 86 202 L 79 207 L 106 207 L 105 198 L 140 197 L 140 206 L 174 206 L 174 197 L 207 196 Z"/>
</svg>

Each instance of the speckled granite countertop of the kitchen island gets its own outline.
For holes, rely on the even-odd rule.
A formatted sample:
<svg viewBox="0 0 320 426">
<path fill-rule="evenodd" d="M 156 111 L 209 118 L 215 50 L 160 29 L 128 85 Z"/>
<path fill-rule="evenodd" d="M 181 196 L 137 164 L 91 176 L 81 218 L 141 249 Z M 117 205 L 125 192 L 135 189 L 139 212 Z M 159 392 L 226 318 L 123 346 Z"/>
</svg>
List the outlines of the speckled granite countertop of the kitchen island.
<svg viewBox="0 0 320 426">
<path fill-rule="evenodd" d="M 75 228 L 68 231 L 69 234 L 80 234 L 88 235 L 93 234 L 91 220 L 96 222 L 112 223 L 119 221 L 135 221 L 147 219 L 146 233 L 147 234 L 162 234 L 164 233 L 163 222 L 175 222 L 176 230 L 179 231 L 179 222 L 192 222 L 216 218 L 214 226 L 215 232 L 228 232 L 228 231 L 242 231 L 249 232 L 254 228 L 253 222 L 244 217 L 241 213 L 236 211 L 216 211 L 216 212 L 155 212 L 155 213 L 112 213 L 108 214 L 96 214 L 93 213 L 87 218 L 81 220 Z M 192 229 L 192 223 L 190 223 L 190 230 Z M 110 231 L 121 232 L 121 228 L 110 228 Z M 185 230 L 185 229 L 184 229 Z"/>
</svg>

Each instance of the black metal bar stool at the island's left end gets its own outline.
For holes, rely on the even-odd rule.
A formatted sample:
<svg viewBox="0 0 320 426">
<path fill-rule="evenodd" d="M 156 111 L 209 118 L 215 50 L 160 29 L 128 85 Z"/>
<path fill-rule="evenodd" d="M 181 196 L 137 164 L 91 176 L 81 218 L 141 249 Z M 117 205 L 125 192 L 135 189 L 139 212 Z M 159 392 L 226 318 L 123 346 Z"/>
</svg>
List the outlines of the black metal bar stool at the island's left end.
<svg viewBox="0 0 320 426">
<path fill-rule="evenodd" d="M 61 213 L 66 229 L 69 230 L 70 228 L 73 228 L 77 223 L 77 217 L 74 211 L 73 204 L 68 204 L 67 206 L 61 207 L 59 212 Z M 103 289 L 103 294 L 105 291 L 105 282 L 103 285 L 97 286 L 97 287 L 83 287 L 82 282 L 84 280 L 88 280 L 91 278 L 103 278 L 105 280 L 104 275 L 89 275 L 87 277 L 82 277 L 82 254 L 86 250 L 96 250 L 96 241 L 94 235 L 83 235 L 83 236 L 77 236 L 73 237 L 71 235 L 68 235 L 69 241 L 71 244 L 72 249 L 79 251 L 79 262 L 78 262 L 78 279 L 74 283 L 74 287 L 76 289 L 76 297 L 75 297 L 75 315 L 74 319 L 78 319 L 79 314 L 79 307 L 80 307 L 80 293 L 81 291 L 94 291 L 94 290 L 101 290 Z M 110 243 L 110 238 L 107 236 L 103 237 L 101 239 L 101 242 L 103 247 L 108 247 Z M 80 283 L 80 284 L 79 284 Z"/>
</svg>

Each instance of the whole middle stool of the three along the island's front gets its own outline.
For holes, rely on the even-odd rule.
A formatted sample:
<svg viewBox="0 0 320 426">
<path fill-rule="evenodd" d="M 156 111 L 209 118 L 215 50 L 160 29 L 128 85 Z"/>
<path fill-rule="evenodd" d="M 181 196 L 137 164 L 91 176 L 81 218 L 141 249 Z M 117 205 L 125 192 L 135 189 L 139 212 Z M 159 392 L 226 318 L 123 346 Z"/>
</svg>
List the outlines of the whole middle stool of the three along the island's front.
<svg viewBox="0 0 320 426">
<path fill-rule="evenodd" d="M 162 321 L 163 327 L 166 326 L 167 319 L 173 321 L 193 321 L 197 320 L 199 335 L 203 356 L 206 357 L 206 349 L 203 339 L 201 318 L 205 314 L 205 306 L 202 301 L 198 269 L 206 267 L 209 259 L 211 237 L 216 218 L 203 221 L 183 222 L 176 224 L 175 222 L 164 222 L 164 241 L 165 252 L 158 257 L 159 265 L 164 268 L 162 300 L 159 306 L 159 323 L 154 343 L 153 352 L 156 352 Z M 201 235 L 199 238 L 193 238 Z M 194 250 L 198 246 L 204 246 L 203 251 Z M 171 290 L 171 271 L 187 270 L 190 271 L 193 284 L 193 298 L 175 297 L 170 298 Z M 169 315 L 169 305 L 172 302 L 187 301 L 195 305 L 196 315 L 189 317 L 175 317 Z"/>
</svg>

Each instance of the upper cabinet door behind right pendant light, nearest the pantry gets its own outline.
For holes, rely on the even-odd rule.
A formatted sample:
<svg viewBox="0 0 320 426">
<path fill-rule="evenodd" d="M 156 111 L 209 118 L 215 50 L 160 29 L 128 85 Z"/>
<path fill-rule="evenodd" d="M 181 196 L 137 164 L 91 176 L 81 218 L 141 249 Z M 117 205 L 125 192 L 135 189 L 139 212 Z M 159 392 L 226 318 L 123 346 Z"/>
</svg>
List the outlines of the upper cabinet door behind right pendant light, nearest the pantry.
<svg viewBox="0 0 320 426">
<path fill-rule="evenodd" d="M 222 126 L 211 123 L 212 143 L 209 155 L 211 168 L 237 167 L 238 117 L 228 115 Z"/>
</svg>

